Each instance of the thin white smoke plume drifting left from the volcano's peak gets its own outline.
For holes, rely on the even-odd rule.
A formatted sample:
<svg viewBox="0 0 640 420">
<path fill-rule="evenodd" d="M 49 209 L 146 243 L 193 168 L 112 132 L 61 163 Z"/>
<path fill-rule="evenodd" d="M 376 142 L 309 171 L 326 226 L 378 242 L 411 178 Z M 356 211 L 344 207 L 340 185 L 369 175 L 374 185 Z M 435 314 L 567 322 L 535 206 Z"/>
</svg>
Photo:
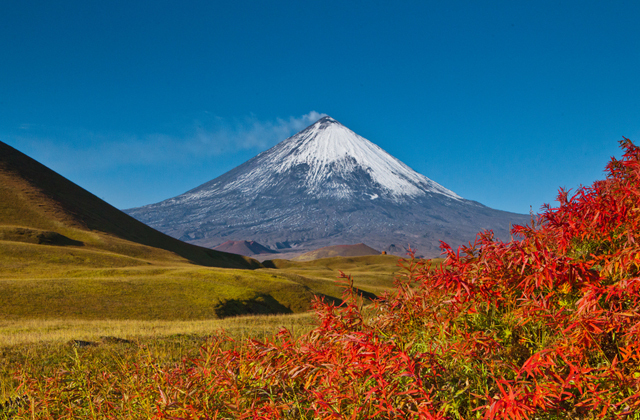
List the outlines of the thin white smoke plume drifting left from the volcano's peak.
<svg viewBox="0 0 640 420">
<path fill-rule="evenodd" d="M 161 133 L 136 136 L 86 130 L 40 130 L 23 124 L 7 142 L 37 160 L 55 162 L 59 170 L 104 170 L 122 165 L 188 162 L 242 151 L 259 153 L 313 124 L 326 114 L 311 111 L 300 117 L 261 121 L 208 117 L 196 121 L 184 135 Z"/>
</svg>

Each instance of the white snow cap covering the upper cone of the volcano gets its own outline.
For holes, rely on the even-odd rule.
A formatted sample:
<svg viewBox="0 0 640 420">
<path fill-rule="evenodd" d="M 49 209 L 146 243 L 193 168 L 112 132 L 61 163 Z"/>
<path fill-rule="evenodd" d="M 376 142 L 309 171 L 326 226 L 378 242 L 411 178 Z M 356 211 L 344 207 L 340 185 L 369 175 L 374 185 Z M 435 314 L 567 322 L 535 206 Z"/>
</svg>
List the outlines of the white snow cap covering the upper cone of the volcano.
<svg viewBox="0 0 640 420">
<path fill-rule="evenodd" d="M 362 185 L 350 182 L 354 177 L 366 174 L 370 178 L 367 189 L 377 191 L 369 193 L 372 199 L 379 196 L 402 199 L 430 192 L 460 199 L 454 192 L 413 171 L 331 117 L 320 119 L 261 153 L 255 161 L 257 165 L 253 170 L 226 184 L 224 188 L 255 194 L 277 184 L 283 173 L 304 168 L 301 185 L 307 194 L 317 197 L 348 199 L 356 194 L 366 194 Z"/>
</svg>

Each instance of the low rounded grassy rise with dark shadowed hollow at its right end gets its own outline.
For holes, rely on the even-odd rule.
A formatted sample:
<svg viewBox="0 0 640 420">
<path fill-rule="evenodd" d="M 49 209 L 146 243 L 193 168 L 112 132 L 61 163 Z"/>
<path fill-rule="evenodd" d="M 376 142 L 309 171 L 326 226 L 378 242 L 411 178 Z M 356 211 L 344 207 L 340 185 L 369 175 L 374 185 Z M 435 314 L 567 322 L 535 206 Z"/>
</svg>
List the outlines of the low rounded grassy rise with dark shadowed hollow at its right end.
<svg viewBox="0 0 640 420">
<path fill-rule="evenodd" d="M 78 268 L 55 277 L 0 278 L 0 317 L 203 320 L 299 313 L 313 291 L 277 273 L 209 267 Z"/>
</svg>

